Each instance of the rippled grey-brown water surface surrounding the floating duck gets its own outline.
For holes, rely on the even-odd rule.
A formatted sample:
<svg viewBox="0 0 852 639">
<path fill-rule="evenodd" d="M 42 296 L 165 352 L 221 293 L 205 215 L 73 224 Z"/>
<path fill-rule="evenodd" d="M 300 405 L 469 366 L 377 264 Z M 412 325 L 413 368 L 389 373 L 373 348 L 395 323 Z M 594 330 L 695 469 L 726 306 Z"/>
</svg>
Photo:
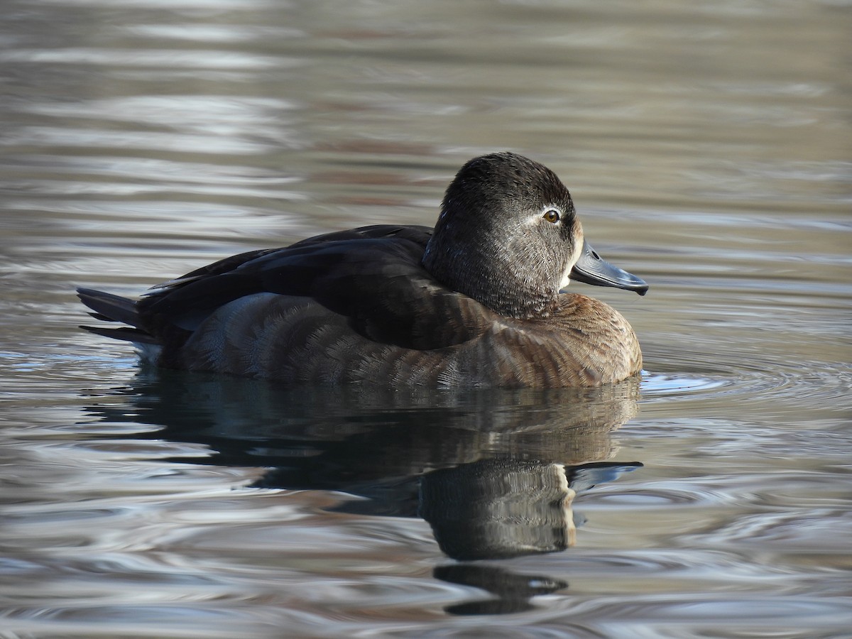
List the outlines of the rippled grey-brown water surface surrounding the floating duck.
<svg viewBox="0 0 852 639">
<path fill-rule="evenodd" d="M 850 16 L 4 3 L 0 636 L 848 636 Z M 651 284 L 584 287 L 638 388 L 293 396 L 77 329 L 504 148 Z"/>
</svg>

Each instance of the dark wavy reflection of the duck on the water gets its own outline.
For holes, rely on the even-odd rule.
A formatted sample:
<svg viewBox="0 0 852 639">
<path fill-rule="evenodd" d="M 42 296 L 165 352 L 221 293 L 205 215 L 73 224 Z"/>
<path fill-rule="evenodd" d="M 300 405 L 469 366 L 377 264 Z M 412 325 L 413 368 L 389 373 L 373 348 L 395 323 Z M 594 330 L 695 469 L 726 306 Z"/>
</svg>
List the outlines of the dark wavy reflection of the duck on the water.
<svg viewBox="0 0 852 639">
<path fill-rule="evenodd" d="M 345 492 L 334 507 L 422 517 L 457 561 L 556 552 L 574 544 L 579 492 L 641 466 L 611 462 L 612 432 L 636 414 L 638 383 L 599 389 L 394 393 L 296 389 L 198 373 L 141 373 L 126 400 L 93 406 L 135 433 L 203 444 L 174 461 L 269 468 L 254 486 Z M 130 402 L 132 410 L 127 403 Z M 503 567 L 454 564 L 435 577 L 496 598 L 449 613 L 516 612 L 566 584 Z"/>
</svg>

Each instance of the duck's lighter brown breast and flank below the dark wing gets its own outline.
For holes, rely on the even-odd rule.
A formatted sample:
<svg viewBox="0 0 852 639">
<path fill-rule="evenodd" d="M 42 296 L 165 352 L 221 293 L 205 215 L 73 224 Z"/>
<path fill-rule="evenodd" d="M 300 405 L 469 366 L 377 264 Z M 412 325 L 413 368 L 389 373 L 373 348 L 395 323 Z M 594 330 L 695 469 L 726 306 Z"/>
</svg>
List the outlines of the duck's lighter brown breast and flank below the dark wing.
<svg viewBox="0 0 852 639">
<path fill-rule="evenodd" d="M 617 311 L 564 297 L 550 318 L 492 320 L 462 343 L 421 349 L 366 337 L 312 298 L 258 293 L 199 326 L 181 367 L 291 384 L 432 388 L 596 386 L 641 370 L 636 336 Z"/>
</svg>

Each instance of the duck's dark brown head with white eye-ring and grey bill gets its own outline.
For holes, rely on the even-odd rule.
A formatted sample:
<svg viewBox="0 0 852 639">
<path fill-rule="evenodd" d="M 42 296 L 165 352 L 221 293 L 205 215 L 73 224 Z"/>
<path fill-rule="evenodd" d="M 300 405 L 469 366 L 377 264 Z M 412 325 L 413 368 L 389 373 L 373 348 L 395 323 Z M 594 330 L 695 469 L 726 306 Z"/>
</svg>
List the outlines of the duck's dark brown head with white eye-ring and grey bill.
<svg viewBox="0 0 852 639">
<path fill-rule="evenodd" d="M 571 195 L 516 153 L 474 158 L 446 189 L 423 267 L 444 285 L 511 317 L 547 314 L 571 279 L 644 295 L 583 238 Z"/>
</svg>

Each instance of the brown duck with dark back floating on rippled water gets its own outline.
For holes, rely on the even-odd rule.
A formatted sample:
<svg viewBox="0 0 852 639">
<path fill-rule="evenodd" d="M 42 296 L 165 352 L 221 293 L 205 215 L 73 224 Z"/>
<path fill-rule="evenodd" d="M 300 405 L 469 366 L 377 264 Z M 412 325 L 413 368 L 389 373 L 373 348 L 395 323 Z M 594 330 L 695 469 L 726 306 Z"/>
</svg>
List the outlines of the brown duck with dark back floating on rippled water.
<svg viewBox="0 0 852 639">
<path fill-rule="evenodd" d="M 435 227 L 381 224 L 226 257 L 134 300 L 79 288 L 92 333 L 165 369 L 288 386 L 567 388 L 642 371 L 630 324 L 573 282 L 648 284 L 584 238 L 559 177 L 518 153 L 469 160 Z"/>
</svg>

